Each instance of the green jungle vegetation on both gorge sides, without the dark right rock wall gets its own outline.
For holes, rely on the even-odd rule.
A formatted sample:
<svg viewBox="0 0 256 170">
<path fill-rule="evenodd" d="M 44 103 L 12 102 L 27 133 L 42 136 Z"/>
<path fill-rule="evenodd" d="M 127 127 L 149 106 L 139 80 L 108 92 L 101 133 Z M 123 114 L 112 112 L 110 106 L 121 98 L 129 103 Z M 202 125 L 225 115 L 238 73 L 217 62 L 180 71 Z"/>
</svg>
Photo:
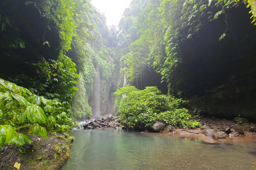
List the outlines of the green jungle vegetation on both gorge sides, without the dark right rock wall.
<svg viewBox="0 0 256 170">
<path fill-rule="evenodd" d="M 87 0 L 2 0 L 0 146 L 30 142 L 23 130 L 46 137 L 47 131 L 69 130 L 75 124 L 71 116 L 92 116 L 89 99 L 97 69 L 102 100 L 106 89 L 122 87 L 120 79 L 114 81 L 115 69 L 121 67 L 133 85 L 116 92 L 117 112 L 126 124 L 150 126 L 162 118 L 181 127 L 198 126 L 183 108 L 186 100 L 178 99 L 182 89 L 173 90 L 183 85 L 174 73 L 187 69 L 182 67 L 184 47 L 220 18 L 224 26 L 218 40 L 225 39 L 231 30 L 229 10 L 238 6 L 251 9 L 255 24 L 255 3 L 133 0 L 118 29 L 109 29 L 105 16 Z"/>
</svg>

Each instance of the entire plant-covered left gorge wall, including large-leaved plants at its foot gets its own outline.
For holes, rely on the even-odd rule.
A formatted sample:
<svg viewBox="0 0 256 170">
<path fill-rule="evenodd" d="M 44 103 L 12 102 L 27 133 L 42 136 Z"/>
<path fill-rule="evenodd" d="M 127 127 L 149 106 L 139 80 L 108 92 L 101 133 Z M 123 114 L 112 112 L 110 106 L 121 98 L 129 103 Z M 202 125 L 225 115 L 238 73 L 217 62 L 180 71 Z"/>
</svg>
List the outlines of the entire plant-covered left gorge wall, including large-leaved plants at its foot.
<svg viewBox="0 0 256 170">
<path fill-rule="evenodd" d="M 0 146 L 92 116 L 96 67 L 104 91 L 115 66 L 105 16 L 87 0 L 4 0 L 0 24 Z"/>
</svg>

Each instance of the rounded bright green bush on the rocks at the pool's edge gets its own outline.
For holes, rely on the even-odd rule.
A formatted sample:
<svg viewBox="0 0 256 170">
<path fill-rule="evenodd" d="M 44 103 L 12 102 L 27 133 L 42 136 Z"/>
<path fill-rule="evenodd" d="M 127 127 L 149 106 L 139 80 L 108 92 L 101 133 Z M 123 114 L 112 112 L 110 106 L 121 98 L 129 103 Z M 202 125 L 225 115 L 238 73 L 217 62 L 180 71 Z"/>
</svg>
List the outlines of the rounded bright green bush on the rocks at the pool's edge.
<svg viewBox="0 0 256 170">
<path fill-rule="evenodd" d="M 161 95 L 156 87 L 138 90 L 128 86 L 117 90 L 115 95 L 121 122 L 129 127 L 147 127 L 159 119 L 182 128 L 199 126 L 188 110 L 181 108 L 188 101 Z"/>
</svg>

